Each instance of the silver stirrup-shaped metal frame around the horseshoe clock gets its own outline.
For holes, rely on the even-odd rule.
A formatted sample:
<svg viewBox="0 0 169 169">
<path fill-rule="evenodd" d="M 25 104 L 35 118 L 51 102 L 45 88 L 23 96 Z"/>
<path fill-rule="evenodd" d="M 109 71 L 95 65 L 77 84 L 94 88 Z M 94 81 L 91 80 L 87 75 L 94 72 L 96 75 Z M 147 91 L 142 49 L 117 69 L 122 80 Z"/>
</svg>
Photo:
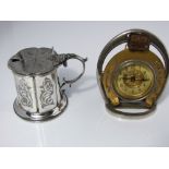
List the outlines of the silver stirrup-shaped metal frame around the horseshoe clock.
<svg viewBox="0 0 169 169">
<path fill-rule="evenodd" d="M 155 109 L 156 105 L 154 105 L 150 109 L 146 110 L 146 111 L 143 111 L 143 112 L 138 112 L 138 113 L 129 113 L 129 112 L 124 112 L 122 110 L 119 110 L 117 109 L 117 107 L 112 106 L 109 101 L 109 99 L 107 98 L 106 96 L 106 93 L 105 93 L 105 89 L 104 89 L 104 85 L 101 83 L 101 74 L 102 74 L 102 65 L 105 63 L 105 60 L 106 58 L 108 57 L 108 55 L 110 53 L 110 51 L 112 51 L 116 47 L 122 45 L 122 44 L 125 44 L 128 43 L 129 40 L 129 37 L 131 34 L 144 34 L 146 36 L 148 36 L 148 39 L 149 39 L 149 45 L 154 46 L 161 55 L 162 57 L 162 60 L 164 60 L 164 64 L 165 64 L 165 69 L 166 69 L 166 79 L 168 76 L 168 73 L 169 73 L 169 57 L 168 57 L 168 52 L 166 50 L 166 47 L 164 46 L 164 44 L 158 39 L 158 37 L 156 37 L 154 34 L 147 32 L 147 31 L 144 31 L 144 29 L 129 29 L 129 31 L 125 31 L 119 35 L 117 35 L 116 37 L 113 37 L 102 49 L 102 51 L 100 52 L 99 55 L 99 58 L 98 58 L 98 62 L 97 62 L 97 82 L 98 82 L 98 85 L 99 85 L 99 88 L 100 88 L 100 92 L 101 92 L 101 95 L 104 97 L 104 100 L 105 100 L 105 104 L 106 104 L 106 107 L 110 110 L 110 111 L 113 111 L 114 113 L 118 113 L 118 114 L 121 114 L 121 116 L 129 116 L 129 117 L 137 117 L 137 116 L 143 116 L 143 114 L 147 114 L 149 112 L 152 112 L 152 110 Z M 132 102 L 128 102 L 125 100 L 122 100 L 121 101 L 121 108 L 131 108 L 131 104 Z M 142 100 L 140 101 L 135 101 L 134 102 L 135 106 L 137 108 L 145 108 L 145 105 Z M 133 106 L 133 105 L 132 105 Z"/>
</svg>

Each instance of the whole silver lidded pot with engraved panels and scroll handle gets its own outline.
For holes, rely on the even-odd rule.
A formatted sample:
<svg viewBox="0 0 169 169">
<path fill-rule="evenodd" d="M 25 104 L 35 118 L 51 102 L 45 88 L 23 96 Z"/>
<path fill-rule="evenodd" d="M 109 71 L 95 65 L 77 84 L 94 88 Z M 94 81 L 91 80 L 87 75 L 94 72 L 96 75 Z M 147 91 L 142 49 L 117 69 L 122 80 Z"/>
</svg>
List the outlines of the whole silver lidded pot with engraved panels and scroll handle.
<svg viewBox="0 0 169 169">
<path fill-rule="evenodd" d="M 74 80 L 59 83 L 57 69 L 69 59 L 82 62 L 83 71 Z M 58 55 L 52 48 L 26 48 L 8 62 L 14 74 L 17 97 L 14 111 L 25 120 L 43 121 L 57 117 L 68 105 L 64 84 L 76 82 L 85 72 L 85 61 L 74 53 Z"/>
</svg>

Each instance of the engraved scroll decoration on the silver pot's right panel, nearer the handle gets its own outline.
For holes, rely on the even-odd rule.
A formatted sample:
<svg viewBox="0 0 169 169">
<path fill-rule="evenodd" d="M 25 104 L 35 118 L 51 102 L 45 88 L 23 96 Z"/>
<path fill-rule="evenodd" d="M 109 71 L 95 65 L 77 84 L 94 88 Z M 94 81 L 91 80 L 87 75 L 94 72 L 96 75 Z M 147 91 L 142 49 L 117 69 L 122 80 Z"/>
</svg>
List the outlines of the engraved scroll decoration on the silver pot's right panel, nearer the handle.
<svg viewBox="0 0 169 169">
<path fill-rule="evenodd" d="M 51 80 L 45 77 L 43 85 L 40 86 L 41 94 L 40 94 L 40 101 L 41 107 L 45 108 L 46 106 L 53 105 L 53 99 L 51 98 L 53 94 L 53 85 Z"/>
</svg>

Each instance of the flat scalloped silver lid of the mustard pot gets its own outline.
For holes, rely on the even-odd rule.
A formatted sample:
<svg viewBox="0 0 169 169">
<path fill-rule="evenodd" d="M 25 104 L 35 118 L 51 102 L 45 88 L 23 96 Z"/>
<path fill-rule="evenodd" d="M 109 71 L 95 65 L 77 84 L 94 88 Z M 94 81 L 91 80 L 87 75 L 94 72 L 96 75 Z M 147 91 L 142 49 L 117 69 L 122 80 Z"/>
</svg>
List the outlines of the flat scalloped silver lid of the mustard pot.
<svg viewBox="0 0 169 169">
<path fill-rule="evenodd" d="M 56 68 L 53 58 L 57 52 L 51 48 L 26 48 L 9 60 L 9 68 L 17 74 L 34 75 L 49 73 Z"/>
</svg>

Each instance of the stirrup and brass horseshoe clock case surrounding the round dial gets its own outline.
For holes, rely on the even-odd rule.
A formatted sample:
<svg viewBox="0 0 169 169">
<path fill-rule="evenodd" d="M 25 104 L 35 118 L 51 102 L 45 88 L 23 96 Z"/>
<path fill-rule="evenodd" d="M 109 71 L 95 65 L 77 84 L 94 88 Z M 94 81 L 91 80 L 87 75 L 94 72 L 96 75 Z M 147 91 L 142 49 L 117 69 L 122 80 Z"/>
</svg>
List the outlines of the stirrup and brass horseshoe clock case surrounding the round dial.
<svg viewBox="0 0 169 169">
<path fill-rule="evenodd" d="M 113 56 L 104 69 L 104 63 L 108 55 L 116 47 L 122 44 L 126 44 L 126 49 Z M 150 46 L 159 51 L 162 60 L 156 53 L 149 50 Z M 135 57 L 135 53 L 137 53 L 137 57 Z M 112 79 L 111 76 L 113 71 L 122 62 L 129 60 L 140 60 L 143 62 L 146 61 L 155 70 L 157 86 L 146 97 L 130 100 L 119 97 L 114 92 L 110 81 L 110 79 Z M 137 117 L 152 112 L 152 110 L 155 109 L 156 101 L 165 87 L 168 70 L 168 52 L 162 43 L 155 35 L 144 29 L 130 29 L 119 34 L 105 46 L 97 62 L 97 81 L 106 107 L 108 110 L 110 110 L 110 112 L 116 112 L 120 116 Z M 142 111 L 138 110 L 132 112 L 131 109 L 133 108 L 142 109 Z M 128 111 L 124 109 L 128 109 Z"/>
</svg>

